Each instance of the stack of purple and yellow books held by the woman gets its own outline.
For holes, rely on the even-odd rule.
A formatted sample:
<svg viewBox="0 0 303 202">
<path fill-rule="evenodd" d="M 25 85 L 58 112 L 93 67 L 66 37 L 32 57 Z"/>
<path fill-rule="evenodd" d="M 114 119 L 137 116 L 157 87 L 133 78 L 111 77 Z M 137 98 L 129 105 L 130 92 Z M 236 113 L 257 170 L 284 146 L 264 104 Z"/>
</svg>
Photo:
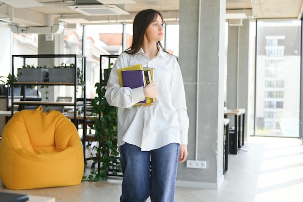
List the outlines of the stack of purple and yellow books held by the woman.
<svg viewBox="0 0 303 202">
<path fill-rule="evenodd" d="M 143 67 L 142 64 L 136 64 L 118 69 L 118 76 L 121 87 L 130 87 L 132 89 L 141 86 L 145 87 L 153 81 L 154 68 Z M 155 101 L 155 98 L 146 97 L 145 100 L 135 105 L 152 105 Z"/>
</svg>

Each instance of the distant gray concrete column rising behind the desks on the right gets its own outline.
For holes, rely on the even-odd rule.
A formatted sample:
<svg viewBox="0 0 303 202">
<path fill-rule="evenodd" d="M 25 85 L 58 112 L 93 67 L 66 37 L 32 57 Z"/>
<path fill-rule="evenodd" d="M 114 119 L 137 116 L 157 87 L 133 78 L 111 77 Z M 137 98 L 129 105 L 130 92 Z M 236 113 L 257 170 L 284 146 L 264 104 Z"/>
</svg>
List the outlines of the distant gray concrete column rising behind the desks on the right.
<svg viewBox="0 0 303 202">
<path fill-rule="evenodd" d="M 247 139 L 250 22 L 243 19 L 242 24 L 243 26 L 228 26 L 227 109 L 246 110 L 244 139 Z M 234 126 L 233 117 L 228 118 L 230 127 Z"/>
</svg>

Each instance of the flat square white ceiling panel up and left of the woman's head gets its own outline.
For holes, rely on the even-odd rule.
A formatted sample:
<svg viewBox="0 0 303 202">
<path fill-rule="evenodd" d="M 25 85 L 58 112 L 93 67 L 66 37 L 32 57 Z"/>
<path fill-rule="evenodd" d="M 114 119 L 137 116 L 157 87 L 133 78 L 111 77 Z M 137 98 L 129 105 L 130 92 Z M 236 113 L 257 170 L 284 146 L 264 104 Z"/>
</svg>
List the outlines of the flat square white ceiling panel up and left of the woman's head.
<svg viewBox="0 0 303 202">
<path fill-rule="evenodd" d="M 86 16 L 109 16 L 109 15 L 128 15 L 126 11 L 116 5 L 72 5 L 67 6 L 76 12 Z"/>
</svg>

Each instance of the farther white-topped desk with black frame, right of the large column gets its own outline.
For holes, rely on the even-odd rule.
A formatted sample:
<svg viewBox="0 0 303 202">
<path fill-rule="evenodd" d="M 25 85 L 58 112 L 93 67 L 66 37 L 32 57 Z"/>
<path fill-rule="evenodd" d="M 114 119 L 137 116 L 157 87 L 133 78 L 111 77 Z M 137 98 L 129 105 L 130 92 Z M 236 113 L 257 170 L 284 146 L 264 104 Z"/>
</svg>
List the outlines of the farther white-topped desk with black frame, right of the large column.
<svg viewBox="0 0 303 202">
<path fill-rule="evenodd" d="M 227 118 L 228 115 L 232 115 L 235 118 L 235 135 L 233 137 L 234 147 L 229 148 L 230 154 L 236 155 L 240 148 L 244 145 L 244 125 L 245 125 L 245 109 L 227 109 L 224 112 L 224 118 Z M 242 117 L 242 120 L 241 120 Z M 242 125 L 241 125 L 242 121 Z M 241 131 L 242 126 L 242 131 Z"/>
</svg>

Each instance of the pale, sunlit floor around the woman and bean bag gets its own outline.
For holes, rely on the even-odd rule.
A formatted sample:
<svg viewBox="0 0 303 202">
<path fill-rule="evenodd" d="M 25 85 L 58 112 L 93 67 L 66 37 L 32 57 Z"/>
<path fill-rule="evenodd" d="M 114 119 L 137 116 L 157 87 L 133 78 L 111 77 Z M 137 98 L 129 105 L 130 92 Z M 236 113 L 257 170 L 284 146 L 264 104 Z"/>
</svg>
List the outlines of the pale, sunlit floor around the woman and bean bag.
<svg viewBox="0 0 303 202">
<path fill-rule="evenodd" d="M 227 175 L 218 190 L 177 187 L 175 202 L 303 202 L 301 140 L 249 137 L 244 149 L 228 156 Z M 0 182 L 0 191 L 51 196 L 56 202 L 119 202 L 121 178 L 19 191 Z"/>
</svg>

